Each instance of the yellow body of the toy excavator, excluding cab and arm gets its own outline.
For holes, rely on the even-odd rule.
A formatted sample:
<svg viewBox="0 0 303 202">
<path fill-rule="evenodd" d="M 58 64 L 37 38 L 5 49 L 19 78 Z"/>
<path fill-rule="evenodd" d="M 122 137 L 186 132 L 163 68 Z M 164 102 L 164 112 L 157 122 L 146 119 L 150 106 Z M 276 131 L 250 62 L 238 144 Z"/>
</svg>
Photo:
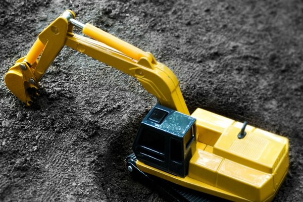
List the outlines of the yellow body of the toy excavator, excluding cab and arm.
<svg viewBox="0 0 303 202">
<path fill-rule="evenodd" d="M 288 139 L 197 109 L 196 150 L 188 175 L 177 177 L 137 161 L 143 172 L 233 201 L 271 201 L 288 171 Z M 250 143 L 249 143 L 250 142 Z"/>
</svg>

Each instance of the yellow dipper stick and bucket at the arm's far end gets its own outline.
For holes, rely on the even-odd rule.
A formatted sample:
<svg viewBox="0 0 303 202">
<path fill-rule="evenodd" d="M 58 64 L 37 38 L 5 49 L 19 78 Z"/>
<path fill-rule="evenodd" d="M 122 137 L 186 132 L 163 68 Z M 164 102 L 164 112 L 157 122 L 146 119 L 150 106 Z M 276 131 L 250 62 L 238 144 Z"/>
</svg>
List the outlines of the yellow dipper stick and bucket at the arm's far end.
<svg viewBox="0 0 303 202">
<path fill-rule="evenodd" d="M 20 58 L 5 75 L 7 87 L 28 106 L 32 102 L 32 95 L 28 93 L 28 88 L 33 87 L 37 89 L 39 87 L 38 82 L 40 78 L 64 46 L 69 27 L 71 25 L 68 24 L 64 17 L 58 17 L 39 34 L 38 39 L 27 56 Z M 40 54 L 41 56 L 38 61 L 37 59 Z M 20 68 L 21 64 L 26 65 L 27 69 L 22 70 Z M 30 83 L 29 79 L 33 79 L 35 83 Z"/>
</svg>

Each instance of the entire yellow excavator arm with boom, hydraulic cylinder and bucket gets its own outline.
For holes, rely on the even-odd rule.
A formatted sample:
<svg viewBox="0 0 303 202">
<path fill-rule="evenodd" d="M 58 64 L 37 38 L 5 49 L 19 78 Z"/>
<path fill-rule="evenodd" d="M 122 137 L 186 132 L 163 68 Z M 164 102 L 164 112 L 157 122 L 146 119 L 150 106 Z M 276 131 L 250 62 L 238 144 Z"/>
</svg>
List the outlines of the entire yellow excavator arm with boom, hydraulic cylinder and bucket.
<svg viewBox="0 0 303 202">
<path fill-rule="evenodd" d="M 39 34 L 28 54 L 9 69 L 6 85 L 22 102 L 32 103 L 41 77 L 67 45 L 135 77 L 161 105 L 189 115 L 178 79 L 168 67 L 150 53 L 74 18 L 72 11 L 65 11 Z M 74 26 L 92 39 L 73 33 Z"/>
</svg>

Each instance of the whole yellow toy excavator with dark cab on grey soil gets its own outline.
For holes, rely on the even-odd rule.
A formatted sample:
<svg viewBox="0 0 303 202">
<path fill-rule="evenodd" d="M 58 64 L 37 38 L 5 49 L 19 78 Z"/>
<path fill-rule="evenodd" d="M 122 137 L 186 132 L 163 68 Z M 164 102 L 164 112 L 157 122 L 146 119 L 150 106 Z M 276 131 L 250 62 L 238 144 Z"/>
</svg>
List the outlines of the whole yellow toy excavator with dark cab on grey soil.
<svg viewBox="0 0 303 202">
<path fill-rule="evenodd" d="M 73 33 L 74 27 L 92 39 Z M 161 186 L 177 186 L 175 192 L 188 201 L 209 201 L 204 193 L 217 200 L 273 200 L 288 172 L 287 138 L 203 109 L 190 115 L 168 67 L 150 53 L 76 21 L 70 10 L 44 29 L 26 57 L 10 68 L 7 87 L 30 105 L 39 80 L 64 45 L 135 77 L 158 98 L 140 124 L 134 154 L 126 159 L 130 172 Z M 186 190 L 195 190 L 195 195 Z"/>
</svg>

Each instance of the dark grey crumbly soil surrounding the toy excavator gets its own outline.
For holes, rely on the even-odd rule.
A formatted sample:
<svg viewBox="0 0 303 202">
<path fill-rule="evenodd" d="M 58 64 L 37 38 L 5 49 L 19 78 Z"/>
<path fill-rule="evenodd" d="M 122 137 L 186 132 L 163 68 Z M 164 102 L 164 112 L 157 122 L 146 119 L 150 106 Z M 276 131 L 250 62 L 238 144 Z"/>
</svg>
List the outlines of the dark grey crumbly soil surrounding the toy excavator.
<svg viewBox="0 0 303 202">
<path fill-rule="evenodd" d="M 286 136 L 290 170 L 275 201 L 303 197 L 302 1 L 0 3 L 0 201 L 166 201 L 125 168 L 156 103 L 134 78 L 64 47 L 26 107 L 4 75 L 66 9 L 154 54 L 193 112 Z"/>
</svg>

